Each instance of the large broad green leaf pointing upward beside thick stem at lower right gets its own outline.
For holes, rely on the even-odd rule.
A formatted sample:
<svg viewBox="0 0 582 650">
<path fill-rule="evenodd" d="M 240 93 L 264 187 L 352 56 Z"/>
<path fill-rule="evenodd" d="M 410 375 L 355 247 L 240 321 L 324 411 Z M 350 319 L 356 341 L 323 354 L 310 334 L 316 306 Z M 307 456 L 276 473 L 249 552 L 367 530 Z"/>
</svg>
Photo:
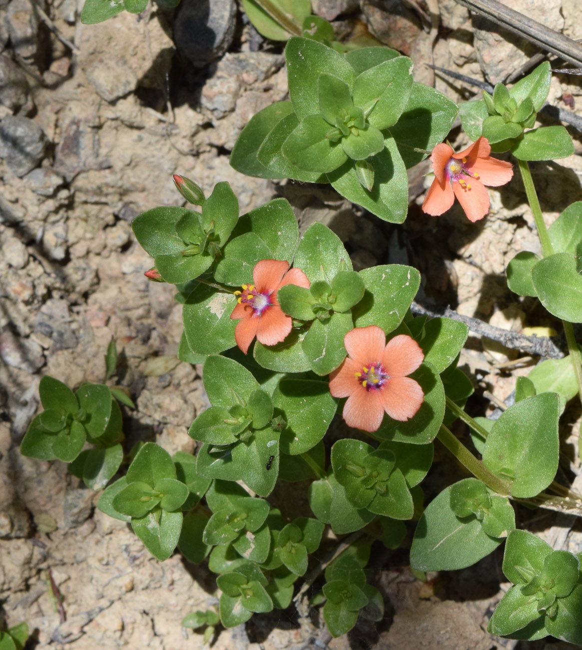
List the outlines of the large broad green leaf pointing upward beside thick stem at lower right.
<svg viewBox="0 0 582 650">
<path fill-rule="evenodd" d="M 528 397 L 494 424 L 483 450 L 483 464 L 506 480 L 514 497 L 535 497 L 558 469 L 559 400 L 555 393 Z"/>
</svg>

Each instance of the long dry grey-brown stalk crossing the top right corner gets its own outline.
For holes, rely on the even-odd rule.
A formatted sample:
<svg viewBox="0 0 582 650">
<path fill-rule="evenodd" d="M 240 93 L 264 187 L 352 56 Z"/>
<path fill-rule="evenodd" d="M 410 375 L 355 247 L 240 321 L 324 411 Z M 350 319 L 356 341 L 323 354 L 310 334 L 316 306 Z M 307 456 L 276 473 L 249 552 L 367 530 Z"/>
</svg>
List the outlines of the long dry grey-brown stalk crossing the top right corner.
<svg viewBox="0 0 582 650">
<path fill-rule="evenodd" d="M 553 52 L 565 61 L 582 67 L 582 45 L 553 29 L 548 29 L 520 12 L 502 5 L 497 0 L 456 0 L 456 3 L 476 11 L 497 25 L 519 34 L 547 52 Z"/>
</svg>

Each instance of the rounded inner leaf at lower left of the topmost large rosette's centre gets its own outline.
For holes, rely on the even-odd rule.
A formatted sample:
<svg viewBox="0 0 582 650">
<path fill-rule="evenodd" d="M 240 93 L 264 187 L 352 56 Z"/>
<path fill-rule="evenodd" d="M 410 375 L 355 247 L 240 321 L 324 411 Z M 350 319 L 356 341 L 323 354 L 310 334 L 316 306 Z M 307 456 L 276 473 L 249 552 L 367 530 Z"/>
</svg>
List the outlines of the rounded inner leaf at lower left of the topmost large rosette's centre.
<svg viewBox="0 0 582 650">
<path fill-rule="evenodd" d="M 328 137 L 332 129 L 321 115 L 308 115 L 285 140 L 281 151 L 291 164 L 306 172 L 332 172 L 347 161 L 342 142 Z"/>
</svg>

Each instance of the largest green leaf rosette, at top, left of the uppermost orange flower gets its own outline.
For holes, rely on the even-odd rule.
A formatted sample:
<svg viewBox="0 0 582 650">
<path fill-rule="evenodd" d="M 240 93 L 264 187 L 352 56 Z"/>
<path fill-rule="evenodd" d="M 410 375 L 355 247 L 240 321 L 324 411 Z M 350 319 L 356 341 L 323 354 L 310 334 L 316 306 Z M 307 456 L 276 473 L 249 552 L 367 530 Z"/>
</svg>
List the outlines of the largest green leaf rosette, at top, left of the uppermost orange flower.
<svg viewBox="0 0 582 650">
<path fill-rule="evenodd" d="M 456 106 L 415 83 L 412 62 L 394 50 L 362 47 L 341 54 L 327 36 L 315 21 L 312 35 L 289 39 L 291 101 L 274 103 L 250 120 L 231 166 L 264 178 L 330 183 L 371 213 L 401 223 L 406 167 L 444 138 Z"/>
</svg>

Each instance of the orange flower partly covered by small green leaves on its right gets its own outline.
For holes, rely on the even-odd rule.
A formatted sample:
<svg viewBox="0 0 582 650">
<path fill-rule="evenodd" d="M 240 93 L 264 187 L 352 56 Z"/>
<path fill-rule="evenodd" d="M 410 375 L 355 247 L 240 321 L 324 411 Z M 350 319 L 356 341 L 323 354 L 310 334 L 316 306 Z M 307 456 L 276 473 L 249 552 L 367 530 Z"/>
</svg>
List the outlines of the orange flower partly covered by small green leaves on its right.
<svg viewBox="0 0 582 650">
<path fill-rule="evenodd" d="M 254 284 L 243 285 L 243 291 L 235 291 L 239 301 L 230 315 L 233 320 L 241 319 L 234 337 L 245 354 L 254 337 L 263 345 L 274 345 L 291 331 L 291 317 L 279 306 L 277 291 L 286 284 L 310 287 L 302 270 L 289 270 L 289 263 L 278 259 L 261 259 L 252 271 L 252 279 Z"/>
</svg>

